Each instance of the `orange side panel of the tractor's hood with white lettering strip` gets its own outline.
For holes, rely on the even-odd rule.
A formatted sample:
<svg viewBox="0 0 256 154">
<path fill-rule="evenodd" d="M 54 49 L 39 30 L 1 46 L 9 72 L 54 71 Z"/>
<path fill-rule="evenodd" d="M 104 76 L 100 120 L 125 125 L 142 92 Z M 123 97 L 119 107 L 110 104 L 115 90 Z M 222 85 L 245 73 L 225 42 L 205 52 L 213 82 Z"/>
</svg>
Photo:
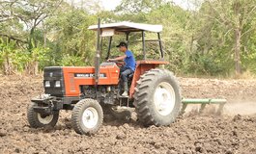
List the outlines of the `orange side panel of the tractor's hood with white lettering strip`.
<svg viewBox="0 0 256 154">
<path fill-rule="evenodd" d="M 95 68 L 86 67 L 63 67 L 66 96 L 79 96 L 82 85 L 95 85 Z M 117 85 L 119 82 L 120 69 L 116 65 L 100 66 L 99 85 Z"/>
</svg>

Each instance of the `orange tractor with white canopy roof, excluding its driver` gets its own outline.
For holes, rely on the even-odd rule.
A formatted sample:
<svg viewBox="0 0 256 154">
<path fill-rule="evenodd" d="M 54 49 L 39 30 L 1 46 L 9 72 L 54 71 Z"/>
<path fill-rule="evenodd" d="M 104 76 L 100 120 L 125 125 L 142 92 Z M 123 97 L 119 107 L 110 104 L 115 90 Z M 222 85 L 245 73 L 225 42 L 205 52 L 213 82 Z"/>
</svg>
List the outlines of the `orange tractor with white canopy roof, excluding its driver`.
<svg viewBox="0 0 256 154">
<path fill-rule="evenodd" d="M 169 125 L 179 115 L 182 100 L 178 82 L 169 70 L 159 68 L 163 60 L 161 25 L 120 22 L 90 26 L 98 32 L 95 66 L 49 66 L 44 68 L 43 95 L 32 99 L 27 118 L 31 127 L 55 126 L 60 110 L 71 110 L 71 124 L 76 133 L 94 134 L 100 129 L 103 113 L 115 107 L 135 108 L 138 120 L 145 126 Z M 156 39 L 145 39 L 145 32 L 156 33 Z M 126 35 L 128 45 L 132 33 L 141 34 L 143 60 L 136 61 L 128 76 L 128 96 L 121 95 L 120 63 L 100 64 L 100 38 L 108 38 L 106 60 L 111 52 L 113 36 Z M 138 36 L 138 35 L 137 35 Z M 138 37 L 137 37 L 138 38 Z M 159 60 L 146 55 L 145 42 L 156 41 Z M 104 112 L 103 112 L 104 111 Z"/>
</svg>

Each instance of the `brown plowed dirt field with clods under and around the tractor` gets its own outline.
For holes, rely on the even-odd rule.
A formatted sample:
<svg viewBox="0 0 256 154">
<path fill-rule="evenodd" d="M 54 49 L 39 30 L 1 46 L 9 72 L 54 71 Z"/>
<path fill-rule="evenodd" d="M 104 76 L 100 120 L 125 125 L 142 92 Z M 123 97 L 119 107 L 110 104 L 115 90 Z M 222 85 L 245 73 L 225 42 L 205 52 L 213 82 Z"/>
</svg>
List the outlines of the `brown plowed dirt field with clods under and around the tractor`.
<svg viewBox="0 0 256 154">
<path fill-rule="evenodd" d="M 26 108 L 43 92 L 41 77 L 0 76 L 0 153 L 256 153 L 256 80 L 179 79 L 184 97 L 226 98 L 224 115 L 191 109 L 168 127 L 105 121 L 97 135 L 77 135 L 71 112 L 53 129 L 32 129 Z"/>
</svg>

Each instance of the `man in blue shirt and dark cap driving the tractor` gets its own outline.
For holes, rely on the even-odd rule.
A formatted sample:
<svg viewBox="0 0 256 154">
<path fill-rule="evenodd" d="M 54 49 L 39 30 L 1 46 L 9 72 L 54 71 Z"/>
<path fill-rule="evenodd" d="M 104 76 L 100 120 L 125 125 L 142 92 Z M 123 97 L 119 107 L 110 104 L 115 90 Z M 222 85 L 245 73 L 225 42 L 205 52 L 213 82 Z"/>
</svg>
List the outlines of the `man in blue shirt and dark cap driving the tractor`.
<svg viewBox="0 0 256 154">
<path fill-rule="evenodd" d="M 119 51 L 124 52 L 125 55 L 117 57 L 115 59 L 108 59 L 107 61 L 124 61 L 125 65 L 121 68 L 121 83 L 124 86 L 124 92 L 122 96 L 128 96 L 128 75 L 132 74 L 135 70 L 136 62 L 131 51 L 128 50 L 128 44 L 121 41 L 119 45 Z"/>
</svg>

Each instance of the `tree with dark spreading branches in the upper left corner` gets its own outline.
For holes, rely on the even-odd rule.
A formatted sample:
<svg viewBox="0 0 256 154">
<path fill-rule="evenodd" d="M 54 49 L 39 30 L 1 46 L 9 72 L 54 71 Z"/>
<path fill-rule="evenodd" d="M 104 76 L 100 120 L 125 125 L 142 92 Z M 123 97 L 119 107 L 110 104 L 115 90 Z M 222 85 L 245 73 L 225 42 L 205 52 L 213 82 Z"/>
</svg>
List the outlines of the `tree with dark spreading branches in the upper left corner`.
<svg viewBox="0 0 256 154">
<path fill-rule="evenodd" d="M 30 52 L 31 58 L 35 51 L 33 48 L 41 46 L 43 43 L 43 20 L 51 16 L 56 8 L 62 3 L 62 0 L 12 0 L 3 1 L 0 3 L 0 37 L 8 38 L 6 43 L 14 40 L 14 46 L 24 51 L 27 49 Z M 45 41 L 44 41 L 45 42 Z M 7 45 L 8 46 L 8 45 Z M 45 45 L 44 45 L 45 47 Z M 33 59 L 32 60 L 37 60 Z M 31 62 L 30 67 L 35 67 L 38 70 L 39 63 Z M 36 74 L 38 72 L 35 72 Z"/>
</svg>

